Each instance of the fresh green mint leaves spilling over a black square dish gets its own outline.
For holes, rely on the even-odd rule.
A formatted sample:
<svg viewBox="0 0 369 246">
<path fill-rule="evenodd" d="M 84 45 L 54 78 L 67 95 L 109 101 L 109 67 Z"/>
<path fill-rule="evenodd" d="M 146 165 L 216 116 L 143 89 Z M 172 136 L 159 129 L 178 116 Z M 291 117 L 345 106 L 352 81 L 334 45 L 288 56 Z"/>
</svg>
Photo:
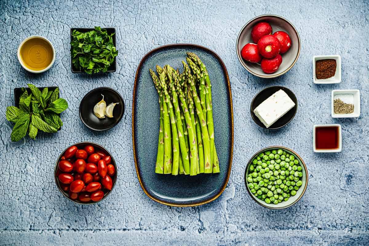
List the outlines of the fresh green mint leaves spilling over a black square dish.
<svg viewBox="0 0 369 246">
<path fill-rule="evenodd" d="M 42 92 L 33 84 L 28 84 L 31 94 L 22 88 L 23 94 L 19 100 L 19 108 L 9 106 L 6 108 L 6 119 L 14 122 L 11 132 L 11 141 L 21 140 L 28 131 L 30 138 L 35 139 L 38 130 L 43 132 L 56 132 L 62 127 L 63 122 L 59 113 L 68 108 L 65 99 L 59 98 L 59 89 L 49 91 L 45 88 Z"/>
</svg>

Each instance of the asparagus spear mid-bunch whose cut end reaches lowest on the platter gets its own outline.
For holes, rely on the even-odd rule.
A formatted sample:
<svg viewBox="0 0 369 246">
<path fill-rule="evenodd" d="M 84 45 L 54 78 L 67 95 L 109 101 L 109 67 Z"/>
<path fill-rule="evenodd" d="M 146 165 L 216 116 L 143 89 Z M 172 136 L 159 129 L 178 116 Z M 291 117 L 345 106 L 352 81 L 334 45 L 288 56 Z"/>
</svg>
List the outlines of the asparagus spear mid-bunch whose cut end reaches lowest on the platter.
<svg viewBox="0 0 369 246">
<path fill-rule="evenodd" d="M 173 80 L 172 83 L 170 82 L 172 80 L 172 76 L 173 76 Z M 175 108 L 175 115 L 176 115 L 176 124 L 177 124 L 177 130 L 178 130 L 178 138 L 179 138 L 179 145 L 180 145 L 180 150 L 181 150 L 181 156 L 182 156 L 182 164 L 183 164 L 183 169 L 184 169 L 184 173 L 185 174 L 189 174 L 190 173 L 190 162 L 189 162 L 189 156 L 188 156 L 188 152 L 186 151 L 186 142 L 184 140 L 184 131 L 183 131 L 183 125 L 182 125 L 182 119 L 181 119 L 181 111 L 179 109 L 179 103 L 178 103 L 178 97 L 177 97 L 177 91 L 176 91 L 176 87 L 175 84 L 179 84 L 178 82 L 178 77 L 176 72 L 172 72 L 172 74 L 168 74 L 169 77 L 169 83 L 171 84 L 172 87 L 172 102 L 173 102 L 173 107 Z"/>
</svg>

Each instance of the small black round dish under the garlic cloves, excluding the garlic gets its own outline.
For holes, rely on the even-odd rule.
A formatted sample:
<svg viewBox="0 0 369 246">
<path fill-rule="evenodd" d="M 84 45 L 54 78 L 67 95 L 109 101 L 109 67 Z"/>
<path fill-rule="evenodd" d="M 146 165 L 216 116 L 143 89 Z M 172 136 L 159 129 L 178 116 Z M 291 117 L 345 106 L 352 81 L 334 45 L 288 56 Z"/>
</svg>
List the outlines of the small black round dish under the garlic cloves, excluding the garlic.
<svg viewBox="0 0 369 246">
<path fill-rule="evenodd" d="M 101 94 L 104 95 L 106 105 L 110 103 L 119 103 L 114 107 L 113 118 L 105 117 L 103 119 L 99 119 L 94 115 L 93 107 L 103 98 Z M 93 89 L 82 98 L 81 103 L 79 104 L 79 118 L 81 118 L 81 121 L 86 125 L 86 127 L 94 131 L 104 131 L 114 127 L 122 119 L 123 114 L 123 98 L 120 96 L 118 91 L 109 87 Z"/>
</svg>

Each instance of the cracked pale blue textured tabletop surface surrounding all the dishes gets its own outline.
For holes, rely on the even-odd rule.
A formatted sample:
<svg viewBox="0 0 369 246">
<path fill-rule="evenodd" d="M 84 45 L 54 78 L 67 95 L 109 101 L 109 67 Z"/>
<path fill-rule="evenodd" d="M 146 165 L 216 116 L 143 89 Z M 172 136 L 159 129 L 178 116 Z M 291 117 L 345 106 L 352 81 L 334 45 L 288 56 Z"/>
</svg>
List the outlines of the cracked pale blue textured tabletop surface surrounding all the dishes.
<svg viewBox="0 0 369 246">
<path fill-rule="evenodd" d="M 0 114 L 0 245 L 368 245 L 368 40 L 366 1 L 16 1 L 0 3 L 3 112 L 13 105 L 14 87 L 59 86 L 69 102 L 64 125 L 37 141 L 10 142 L 12 124 Z M 296 65 L 276 79 L 250 75 L 235 53 L 235 39 L 251 18 L 278 14 L 300 33 Z M 86 76 L 70 70 L 69 29 L 94 25 L 117 28 L 117 72 Z M 18 44 L 42 35 L 56 48 L 54 66 L 41 75 L 25 72 Z M 206 46 L 227 66 L 234 105 L 234 159 L 224 193 L 194 208 L 167 207 L 150 200 L 139 186 L 131 141 L 131 103 L 139 60 L 159 45 L 189 42 Z M 312 56 L 339 54 L 342 82 L 315 85 Z M 269 85 L 294 91 L 299 108 L 293 121 L 272 131 L 251 119 L 252 97 Z M 87 129 L 78 116 L 83 95 L 99 86 L 117 89 L 124 118 L 105 132 Z M 361 117 L 333 119 L 332 89 L 360 89 Z M 155 102 L 156 103 L 156 102 Z M 341 153 L 313 153 L 314 124 L 342 125 Z M 106 200 L 76 205 L 54 184 L 61 149 L 92 141 L 114 153 L 120 173 Z M 307 163 L 309 184 L 294 206 L 271 211 L 256 204 L 244 185 L 249 157 L 269 145 L 292 148 Z M 221 153 L 219 153 L 221 155 Z"/>
</svg>

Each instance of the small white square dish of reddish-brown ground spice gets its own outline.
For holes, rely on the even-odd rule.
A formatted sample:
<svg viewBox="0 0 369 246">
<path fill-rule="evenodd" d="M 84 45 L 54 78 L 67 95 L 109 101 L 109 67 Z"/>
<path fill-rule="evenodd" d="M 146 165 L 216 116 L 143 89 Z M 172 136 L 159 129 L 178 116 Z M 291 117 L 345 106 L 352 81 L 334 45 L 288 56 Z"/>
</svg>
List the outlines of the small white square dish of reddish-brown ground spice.
<svg viewBox="0 0 369 246">
<path fill-rule="evenodd" d="M 341 83 L 341 56 L 313 56 L 313 80 L 315 84 Z"/>
</svg>

